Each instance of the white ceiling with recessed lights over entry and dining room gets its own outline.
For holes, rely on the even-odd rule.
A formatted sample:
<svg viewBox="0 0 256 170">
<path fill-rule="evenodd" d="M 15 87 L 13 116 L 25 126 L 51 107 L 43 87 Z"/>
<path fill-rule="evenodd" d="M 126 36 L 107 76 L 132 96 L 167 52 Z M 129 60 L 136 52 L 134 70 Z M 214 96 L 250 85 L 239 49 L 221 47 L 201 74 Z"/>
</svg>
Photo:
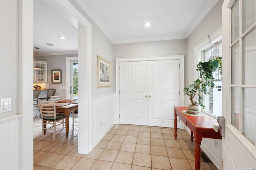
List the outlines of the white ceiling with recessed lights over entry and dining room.
<svg viewBox="0 0 256 170">
<path fill-rule="evenodd" d="M 187 38 L 218 0 L 76 1 L 113 44 L 120 44 Z M 145 22 L 152 25 L 144 27 Z M 77 29 L 42 0 L 34 1 L 36 46 L 38 55 L 77 51 Z"/>
</svg>

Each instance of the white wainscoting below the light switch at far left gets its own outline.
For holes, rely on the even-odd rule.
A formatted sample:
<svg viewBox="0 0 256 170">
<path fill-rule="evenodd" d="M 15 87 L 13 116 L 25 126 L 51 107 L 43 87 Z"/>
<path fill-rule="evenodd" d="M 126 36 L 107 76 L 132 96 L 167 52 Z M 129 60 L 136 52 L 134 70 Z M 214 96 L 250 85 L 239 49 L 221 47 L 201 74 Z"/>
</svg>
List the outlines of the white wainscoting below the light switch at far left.
<svg viewBox="0 0 256 170">
<path fill-rule="evenodd" d="M 21 115 L 0 119 L 0 170 L 19 169 Z"/>
</svg>

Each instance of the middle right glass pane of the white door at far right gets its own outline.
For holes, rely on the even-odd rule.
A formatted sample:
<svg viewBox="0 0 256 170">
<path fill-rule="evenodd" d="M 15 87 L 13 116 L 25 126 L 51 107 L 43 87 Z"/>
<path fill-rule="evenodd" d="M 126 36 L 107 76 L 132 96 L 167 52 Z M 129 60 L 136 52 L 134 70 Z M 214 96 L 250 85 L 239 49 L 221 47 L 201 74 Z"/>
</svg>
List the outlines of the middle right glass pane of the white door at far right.
<svg viewBox="0 0 256 170">
<path fill-rule="evenodd" d="M 243 84 L 255 85 L 255 28 L 243 38 Z"/>
</svg>

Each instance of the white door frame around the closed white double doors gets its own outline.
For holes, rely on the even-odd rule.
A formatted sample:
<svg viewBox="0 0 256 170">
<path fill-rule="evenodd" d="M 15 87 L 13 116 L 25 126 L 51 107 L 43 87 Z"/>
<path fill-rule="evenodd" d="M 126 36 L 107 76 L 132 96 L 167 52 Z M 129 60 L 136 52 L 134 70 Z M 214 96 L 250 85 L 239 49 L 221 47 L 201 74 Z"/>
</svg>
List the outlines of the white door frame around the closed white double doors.
<svg viewBox="0 0 256 170">
<path fill-rule="evenodd" d="M 114 124 L 119 124 L 119 65 L 120 62 L 132 61 L 156 61 L 156 60 L 180 60 L 180 106 L 184 105 L 184 55 L 173 56 L 152 56 L 152 57 L 136 57 L 136 58 L 116 58 L 116 113 L 114 114 Z"/>
</svg>

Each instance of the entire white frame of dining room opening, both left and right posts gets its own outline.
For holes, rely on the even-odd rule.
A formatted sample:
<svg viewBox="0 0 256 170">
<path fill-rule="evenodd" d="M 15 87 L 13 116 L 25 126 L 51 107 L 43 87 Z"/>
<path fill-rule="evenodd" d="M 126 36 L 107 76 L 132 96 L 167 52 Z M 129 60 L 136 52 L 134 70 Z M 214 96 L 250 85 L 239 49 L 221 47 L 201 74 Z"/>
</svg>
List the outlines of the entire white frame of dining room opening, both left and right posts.
<svg viewBox="0 0 256 170">
<path fill-rule="evenodd" d="M 79 131 L 78 152 L 80 154 L 88 154 L 92 150 L 92 25 L 68 0 L 46 0 L 45 2 L 78 28 L 78 62 L 84 65 L 84 67 L 80 68 L 80 71 L 85 73 L 78 74 L 78 79 L 80 80 L 78 82 L 78 88 L 80 89 L 81 96 L 83 96 L 79 98 L 79 103 L 82 104 L 78 104 L 79 109 L 83 111 L 83 114 L 79 116 L 79 121 L 83 122 L 80 123 L 79 129 L 81 128 L 83 130 Z M 22 73 L 19 76 L 19 81 L 30 83 L 33 78 L 33 69 L 30 69 L 32 68 L 32 64 L 30 63 L 33 63 L 33 0 L 19 1 L 19 16 L 20 62 L 18 70 Z M 30 32 L 32 33 L 29 34 Z M 28 78 L 30 77 L 28 75 L 31 75 L 31 79 Z M 26 84 L 22 84 L 22 86 L 20 86 L 21 88 L 18 90 L 18 95 L 20 96 L 19 100 L 27 98 L 32 101 L 32 90 L 29 90 L 29 86 L 25 85 Z M 24 94 L 26 95 L 24 96 Z M 28 108 L 27 104 L 30 103 L 25 101 L 26 100 L 19 105 L 20 113 L 30 113 L 24 111 L 24 108 Z M 31 117 L 29 116 L 30 118 L 27 118 L 27 115 L 28 114 L 22 114 L 22 127 L 20 128 L 22 139 L 20 149 L 23 150 L 23 152 L 20 152 L 20 169 L 28 169 L 26 167 L 31 164 L 30 158 L 33 158 L 32 152 L 30 152 L 33 150 L 33 144 L 30 142 L 28 147 L 28 140 L 33 141 L 33 134 L 32 131 L 26 131 L 26 129 L 28 129 L 27 122 L 31 121 L 33 117 L 32 110 L 31 114 L 29 114 Z M 26 138 L 26 136 L 28 138 Z M 26 150 L 28 152 L 26 152 Z"/>
</svg>

